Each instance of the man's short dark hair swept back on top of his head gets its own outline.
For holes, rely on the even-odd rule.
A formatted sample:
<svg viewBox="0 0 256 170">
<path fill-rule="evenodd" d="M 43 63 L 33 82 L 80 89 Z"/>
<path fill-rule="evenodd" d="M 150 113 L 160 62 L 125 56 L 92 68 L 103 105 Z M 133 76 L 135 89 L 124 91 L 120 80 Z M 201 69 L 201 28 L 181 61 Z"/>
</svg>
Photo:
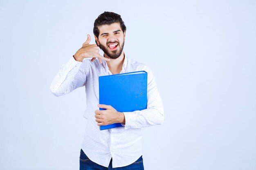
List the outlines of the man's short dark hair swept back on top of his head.
<svg viewBox="0 0 256 170">
<path fill-rule="evenodd" d="M 94 21 L 94 27 L 93 27 L 93 33 L 94 35 L 99 38 L 99 28 L 98 26 L 101 26 L 101 25 L 110 25 L 110 24 L 113 24 L 113 23 L 120 23 L 121 25 L 121 29 L 124 33 L 124 31 L 126 31 L 126 26 L 124 24 L 124 21 L 122 20 L 121 18 L 121 15 L 118 15 L 117 13 L 113 13 L 113 12 L 104 12 L 104 13 L 101 13 L 101 15 L 98 16 L 98 18 Z M 97 41 L 95 40 L 96 44 L 97 44 Z"/>
</svg>

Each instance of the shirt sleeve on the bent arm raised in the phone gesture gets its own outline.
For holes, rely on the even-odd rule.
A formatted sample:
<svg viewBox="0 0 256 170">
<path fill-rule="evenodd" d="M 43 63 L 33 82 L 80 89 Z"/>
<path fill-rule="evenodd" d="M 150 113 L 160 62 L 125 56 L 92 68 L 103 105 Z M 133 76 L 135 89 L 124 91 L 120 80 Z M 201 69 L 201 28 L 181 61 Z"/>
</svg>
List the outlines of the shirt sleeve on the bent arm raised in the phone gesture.
<svg viewBox="0 0 256 170">
<path fill-rule="evenodd" d="M 61 96 L 84 86 L 86 73 L 82 64 L 83 62 L 76 61 L 74 57 L 70 58 L 66 64 L 63 64 L 50 86 L 52 94 Z"/>
</svg>

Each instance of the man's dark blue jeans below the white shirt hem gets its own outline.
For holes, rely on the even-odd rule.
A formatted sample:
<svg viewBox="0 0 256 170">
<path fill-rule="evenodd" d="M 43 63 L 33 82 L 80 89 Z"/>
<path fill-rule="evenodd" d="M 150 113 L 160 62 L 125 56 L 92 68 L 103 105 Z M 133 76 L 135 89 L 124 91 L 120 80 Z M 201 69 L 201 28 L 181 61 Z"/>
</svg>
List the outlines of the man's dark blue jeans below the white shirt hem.
<svg viewBox="0 0 256 170">
<path fill-rule="evenodd" d="M 80 170 L 144 170 L 142 155 L 134 163 L 119 168 L 112 168 L 112 158 L 108 168 L 91 161 L 81 149 L 80 151 Z"/>
</svg>

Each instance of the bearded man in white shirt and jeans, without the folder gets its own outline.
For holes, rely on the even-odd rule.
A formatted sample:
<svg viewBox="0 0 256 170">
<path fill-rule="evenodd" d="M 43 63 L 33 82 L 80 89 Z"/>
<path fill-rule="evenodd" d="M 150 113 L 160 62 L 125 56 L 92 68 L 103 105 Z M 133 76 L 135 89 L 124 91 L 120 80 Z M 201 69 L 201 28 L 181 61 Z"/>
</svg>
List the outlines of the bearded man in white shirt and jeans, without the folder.
<svg viewBox="0 0 256 170">
<path fill-rule="evenodd" d="M 94 22 L 93 33 L 96 44 L 89 44 L 91 38 L 88 35 L 81 49 L 61 66 L 50 91 L 61 96 L 85 86 L 87 108 L 83 116 L 88 123 L 81 146 L 80 170 L 118 170 L 118 167 L 122 170 L 143 170 L 141 128 L 164 121 L 164 108 L 155 78 L 148 66 L 124 54 L 126 26 L 120 15 L 102 13 Z M 99 48 L 104 56 L 99 54 Z M 146 109 L 121 113 L 112 106 L 99 104 L 99 76 L 133 71 L 148 73 Z M 113 123 L 123 126 L 99 130 L 99 126 Z"/>
</svg>

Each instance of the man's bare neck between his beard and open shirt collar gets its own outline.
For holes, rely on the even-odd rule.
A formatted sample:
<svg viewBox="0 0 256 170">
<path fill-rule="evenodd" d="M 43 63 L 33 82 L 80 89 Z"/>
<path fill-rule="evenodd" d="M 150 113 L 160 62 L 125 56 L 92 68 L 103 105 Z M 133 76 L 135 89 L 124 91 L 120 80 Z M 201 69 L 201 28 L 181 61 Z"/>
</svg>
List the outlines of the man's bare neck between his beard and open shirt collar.
<svg viewBox="0 0 256 170">
<path fill-rule="evenodd" d="M 104 57 L 110 58 L 105 53 L 104 53 Z M 110 61 L 106 61 L 106 62 L 108 64 L 108 69 L 111 71 L 112 74 L 119 74 L 122 71 L 122 67 L 124 64 L 124 51 L 121 53 L 121 55 L 118 58 L 111 59 Z"/>
</svg>

